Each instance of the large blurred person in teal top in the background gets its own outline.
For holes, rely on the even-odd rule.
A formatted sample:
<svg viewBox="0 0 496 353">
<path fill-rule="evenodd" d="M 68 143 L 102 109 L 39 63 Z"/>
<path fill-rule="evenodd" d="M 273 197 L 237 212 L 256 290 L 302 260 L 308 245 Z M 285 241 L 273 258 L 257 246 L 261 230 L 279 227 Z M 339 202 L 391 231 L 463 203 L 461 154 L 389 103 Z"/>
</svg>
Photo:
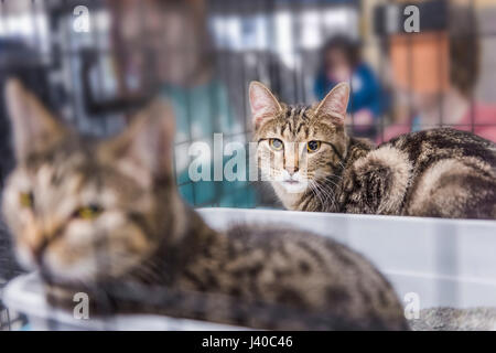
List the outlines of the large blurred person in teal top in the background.
<svg viewBox="0 0 496 353">
<path fill-rule="evenodd" d="M 192 183 L 188 175 L 188 148 L 193 142 L 208 143 L 212 153 L 216 132 L 239 133 L 235 139 L 242 141 L 242 127 L 233 114 L 227 89 L 214 74 L 204 1 L 110 2 L 119 19 L 116 42 L 129 51 L 121 63 L 128 86 L 131 90 L 133 86 L 140 87 L 138 90 L 155 89 L 174 107 L 175 165 L 182 196 L 195 205 L 254 206 L 255 193 L 247 182 Z M 226 142 L 228 138 L 224 137 Z"/>
</svg>

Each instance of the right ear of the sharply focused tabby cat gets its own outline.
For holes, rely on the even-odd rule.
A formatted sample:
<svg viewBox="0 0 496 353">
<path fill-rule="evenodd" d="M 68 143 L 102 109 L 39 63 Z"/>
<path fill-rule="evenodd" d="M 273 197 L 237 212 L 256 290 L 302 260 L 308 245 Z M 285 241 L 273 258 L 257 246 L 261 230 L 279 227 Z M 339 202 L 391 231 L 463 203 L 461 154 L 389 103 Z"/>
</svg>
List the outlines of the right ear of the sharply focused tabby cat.
<svg viewBox="0 0 496 353">
<path fill-rule="evenodd" d="M 349 100 L 349 85 L 336 85 L 316 107 L 316 114 L 328 116 L 335 125 L 344 125 Z"/>
</svg>

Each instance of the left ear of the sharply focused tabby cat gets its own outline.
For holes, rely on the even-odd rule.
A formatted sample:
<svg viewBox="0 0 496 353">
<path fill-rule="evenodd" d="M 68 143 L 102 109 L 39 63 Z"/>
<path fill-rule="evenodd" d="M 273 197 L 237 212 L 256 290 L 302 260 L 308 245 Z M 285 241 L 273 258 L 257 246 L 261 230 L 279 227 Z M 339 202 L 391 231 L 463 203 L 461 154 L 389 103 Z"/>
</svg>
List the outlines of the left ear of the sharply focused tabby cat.
<svg viewBox="0 0 496 353">
<path fill-rule="evenodd" d="M 257 81 L 250 83 L 249 98 L 255 129 L 258 129 L 263 120 L 273 118 L 282 110 L 269 88 Z"/>
</svg>

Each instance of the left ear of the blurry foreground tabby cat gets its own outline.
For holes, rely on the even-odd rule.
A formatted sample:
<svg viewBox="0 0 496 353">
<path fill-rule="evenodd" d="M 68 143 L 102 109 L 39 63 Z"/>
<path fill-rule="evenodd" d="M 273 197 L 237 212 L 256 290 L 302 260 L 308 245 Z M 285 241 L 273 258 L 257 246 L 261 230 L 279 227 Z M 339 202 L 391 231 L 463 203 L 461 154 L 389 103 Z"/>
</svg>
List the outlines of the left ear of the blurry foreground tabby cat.
<svg viewBox="0 0 496 353">
<path fill-rule="evenodd" d="M 32 152 L 45 149 L 64 136 L 66 128 L 19 79 L 6 84 L 6 103 L 13 132 L 15 158 L 23 161 Z"/>
</svg>

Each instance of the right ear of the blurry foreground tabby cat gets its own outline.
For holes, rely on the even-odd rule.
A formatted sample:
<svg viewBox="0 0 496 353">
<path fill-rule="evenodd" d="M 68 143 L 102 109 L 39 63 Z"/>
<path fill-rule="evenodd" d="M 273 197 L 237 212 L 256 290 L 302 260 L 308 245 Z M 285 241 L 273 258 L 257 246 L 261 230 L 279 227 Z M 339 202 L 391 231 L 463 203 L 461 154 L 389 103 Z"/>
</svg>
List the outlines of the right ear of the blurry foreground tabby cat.
<svg viewBox="0 0 496 353">
<path fill-rule="evenodd" d="M 160 179 L 172 173 L 175 120 L 172 106 L 160 98 L 149 104 L 119 136 L 103 145 L 100 152 L 131 174 L 145 172 Z"/>
</svg>

